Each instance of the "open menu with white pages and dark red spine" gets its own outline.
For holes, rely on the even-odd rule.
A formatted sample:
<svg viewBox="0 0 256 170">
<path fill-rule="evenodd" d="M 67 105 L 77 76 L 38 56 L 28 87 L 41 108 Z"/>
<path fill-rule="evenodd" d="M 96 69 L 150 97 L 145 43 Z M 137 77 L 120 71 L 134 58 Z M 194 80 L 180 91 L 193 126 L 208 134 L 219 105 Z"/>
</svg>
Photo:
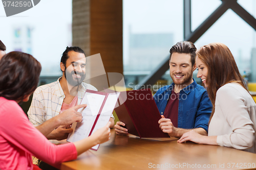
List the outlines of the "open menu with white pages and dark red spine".
<svg viewBox="0 0 256 170">
<path fill-rule="evenodd" d="M 69 134 L 67 141 L 75 142 L 92 135 L 96 130 L 104 127 L 110 120 L 120 92 L 105 93 L 93 90 L 86 90 L 81 104 L 87 104 L 81 108 L 81 122 L 72 124 L 73 132 Z M 99 144 L 92 149 L 98 150 Z"/>
</svg>

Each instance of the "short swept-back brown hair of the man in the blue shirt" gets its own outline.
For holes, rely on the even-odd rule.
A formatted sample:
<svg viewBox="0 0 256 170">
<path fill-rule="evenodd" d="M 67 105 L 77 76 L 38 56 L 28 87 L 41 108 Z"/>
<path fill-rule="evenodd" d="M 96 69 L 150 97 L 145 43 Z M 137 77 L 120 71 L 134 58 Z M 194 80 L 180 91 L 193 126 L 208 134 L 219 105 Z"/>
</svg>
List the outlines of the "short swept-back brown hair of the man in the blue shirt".
<svg viewBox="0 0 256 170">
<path fill-rule="evenodd" d="M 190 41 L 180 41 L 177 42 L 172 48 L 170 48 L 170 58 L 172 58 L 173 53 L 180 53 L 180 54 L 190 54 L 191 57 L 191 64 L 192 66 L 196 63 L 196 51 L 197 48 Z"/>
</svg>

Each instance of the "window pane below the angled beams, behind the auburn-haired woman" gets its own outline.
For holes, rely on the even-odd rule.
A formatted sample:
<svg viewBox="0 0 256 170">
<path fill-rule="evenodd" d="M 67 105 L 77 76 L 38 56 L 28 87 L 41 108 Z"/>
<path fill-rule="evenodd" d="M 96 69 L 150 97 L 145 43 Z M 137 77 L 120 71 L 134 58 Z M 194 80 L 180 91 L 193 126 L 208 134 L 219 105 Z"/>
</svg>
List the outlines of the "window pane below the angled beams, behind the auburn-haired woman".
<svg viewBox="0 0 256 170">
<path fill-rule="evenodd" d="M 255 40 L 255 37 L 253 37 L 254 32 L 252 27 L 229 9 L 195 43 L 195 45 L 199 49 L 200 46 L 212 42 L 224 43 L 233 54 L 241 75 L 249 77 L 252 72 L 251 66 L 254 65 L 250 62 L 253 40 Z M 256 80 L 249 79 L 249 81 Z"/>
</svg>

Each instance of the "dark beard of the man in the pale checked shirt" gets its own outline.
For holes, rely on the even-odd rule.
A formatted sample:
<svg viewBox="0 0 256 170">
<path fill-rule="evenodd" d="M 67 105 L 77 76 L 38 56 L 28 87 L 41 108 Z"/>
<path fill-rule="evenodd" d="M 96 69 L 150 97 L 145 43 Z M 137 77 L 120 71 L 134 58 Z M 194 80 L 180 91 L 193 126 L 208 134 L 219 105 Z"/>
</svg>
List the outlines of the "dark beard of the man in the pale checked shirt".
<svg viewBox="0 0 256 170">
<path fill-rule="evenodd" d="M 72 86 L 79 86 L 82 81 L 86 78 L 86 74 L 83 74 L 82 72 L 78 72 L 78 71 L 71 71 L 71 72 L 68 72 L 66 71 L 67 68 L 65 66 L 65 72 L 64 72 L 64 76 L 65 78 L 67 79 L 68 83 Z M 80 78 L 73 78 L 72 75 L 80 75 L 81 77 Z"/>
</svg>

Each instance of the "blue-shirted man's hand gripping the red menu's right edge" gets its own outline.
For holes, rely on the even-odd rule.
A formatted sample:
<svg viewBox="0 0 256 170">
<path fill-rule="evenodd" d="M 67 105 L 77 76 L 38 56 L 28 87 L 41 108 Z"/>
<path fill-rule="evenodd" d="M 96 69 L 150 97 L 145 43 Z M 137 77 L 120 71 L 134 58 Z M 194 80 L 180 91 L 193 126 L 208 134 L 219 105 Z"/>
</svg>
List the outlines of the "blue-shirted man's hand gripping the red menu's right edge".
<svg viewBox="0 0 256 170">
<path fill-rule="evenodd" d="M 169 118 L 165 118 L 164 115 L 161 115 L 161 119 L 158 121 L 160 129 L 164 133 L 168 133 L 170 137 L 176 137 L 177 136 L 177 129 L 174 127 L 172 121 L 170 121 Z"/>
</svg>

